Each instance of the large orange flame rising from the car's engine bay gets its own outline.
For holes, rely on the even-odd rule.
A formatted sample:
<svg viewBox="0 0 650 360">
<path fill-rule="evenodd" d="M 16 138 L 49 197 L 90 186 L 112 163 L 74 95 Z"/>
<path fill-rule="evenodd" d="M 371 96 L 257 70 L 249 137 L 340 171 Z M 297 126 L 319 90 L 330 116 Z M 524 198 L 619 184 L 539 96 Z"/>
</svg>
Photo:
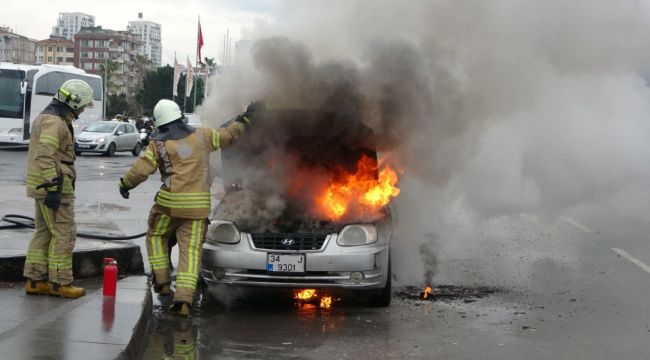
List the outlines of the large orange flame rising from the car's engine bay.
<svg viewBox="0 0 650 360">
<path fill-rule="evenodd" d="M 376 174 L 379 173 L 379 178 Z M 331 179 L 317 196 L 317 210 L 330 220 L 341 219 L 355 207 L 357 215 L 374 214 L 400 193 L 397 172 L 362 156 L 354 174 L 344 172 L 339 179 Z"/>
</svg>

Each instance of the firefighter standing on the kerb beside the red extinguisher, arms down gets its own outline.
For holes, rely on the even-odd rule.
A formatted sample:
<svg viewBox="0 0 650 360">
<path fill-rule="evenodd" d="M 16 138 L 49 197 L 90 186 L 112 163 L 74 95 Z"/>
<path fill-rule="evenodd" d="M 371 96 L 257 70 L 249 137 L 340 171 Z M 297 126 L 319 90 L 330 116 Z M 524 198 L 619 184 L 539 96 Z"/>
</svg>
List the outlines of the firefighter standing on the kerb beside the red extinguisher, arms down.
<svg viewBox="0 0 650 360">
<path fill-rule="evenodd" d="M 93 104 L 93 90 L 82 80 L 61 85 L 52 102 L 34 120 L 27 152 L 27 196 L 35 199 L 34 235 L 23 275 L 29 295 L 79 298 L 72 286 L 74 221 L 74 132 L 72 121 Z"/>
</svg>

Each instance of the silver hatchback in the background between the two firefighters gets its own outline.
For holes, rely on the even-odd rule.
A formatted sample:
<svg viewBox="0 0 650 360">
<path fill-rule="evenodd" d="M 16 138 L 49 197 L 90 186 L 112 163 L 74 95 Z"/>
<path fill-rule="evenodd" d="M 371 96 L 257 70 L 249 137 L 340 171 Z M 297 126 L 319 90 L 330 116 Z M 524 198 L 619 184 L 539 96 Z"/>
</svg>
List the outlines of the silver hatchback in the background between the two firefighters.
<svg viewBox="0 0 650 360">
<path fill-rule="evenodd" d="M 75 154 L 84 152 L 113 156 L 118 151 L 130 151 L 138 156 L 142 150 L 140 134 L 135 125 L 122 121 L 99 121 L 83 128 L 76 137 Z"/>
</svg>

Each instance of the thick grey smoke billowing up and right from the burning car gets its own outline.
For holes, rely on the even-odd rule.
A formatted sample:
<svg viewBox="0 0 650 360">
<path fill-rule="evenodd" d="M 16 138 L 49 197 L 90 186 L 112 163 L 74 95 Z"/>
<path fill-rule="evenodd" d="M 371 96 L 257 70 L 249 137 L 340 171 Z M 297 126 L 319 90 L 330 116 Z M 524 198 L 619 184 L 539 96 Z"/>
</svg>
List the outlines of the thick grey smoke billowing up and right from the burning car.
<svg viewBox="0 0 650 360">
<path fill-rule="evenodd" d="M 261 98 L 357 112 L 403 170 L 398 280 L 525 282 L 536 261 L 577 257 L 552 236 L 564 219 L 648 213 L 646 14 L 640 1 L 287 1 L 247 34 L 252 67 L 215 78 L 200 111 L 224 119 Z"/>
</svg>

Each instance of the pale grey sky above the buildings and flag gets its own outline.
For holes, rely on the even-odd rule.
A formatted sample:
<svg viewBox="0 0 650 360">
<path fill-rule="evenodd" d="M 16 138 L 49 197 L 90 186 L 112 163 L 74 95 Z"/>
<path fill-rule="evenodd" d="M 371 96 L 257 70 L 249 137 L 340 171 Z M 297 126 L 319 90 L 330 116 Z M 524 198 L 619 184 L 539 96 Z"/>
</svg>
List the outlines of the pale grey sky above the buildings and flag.
<svg viewBox="0 0 650 360">
<path fill-rule="evenodd" d="M 43 40 L 49 37 L 60 12 L 83 12 L 95 16 L 95 24 L 113 30 L 125 30 L 127 23 L 144 20 L 162 26 L 163 64 L 179 62 L 196 53 L 197 18 L 201 16 L 204 46 L 202 56 L 221 60 L 223 36 L 230 29 L 234 41 L 242 30 L 256 22 L 270 22 L 277 8 L 276 0 L 112 0 L 112 1 L 5 1 L 0 12 L 0 26 L 8 26 L 21 35 Z"/>
</svg>

